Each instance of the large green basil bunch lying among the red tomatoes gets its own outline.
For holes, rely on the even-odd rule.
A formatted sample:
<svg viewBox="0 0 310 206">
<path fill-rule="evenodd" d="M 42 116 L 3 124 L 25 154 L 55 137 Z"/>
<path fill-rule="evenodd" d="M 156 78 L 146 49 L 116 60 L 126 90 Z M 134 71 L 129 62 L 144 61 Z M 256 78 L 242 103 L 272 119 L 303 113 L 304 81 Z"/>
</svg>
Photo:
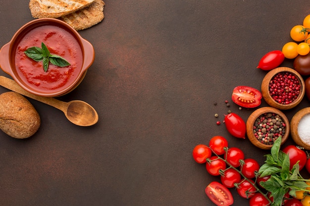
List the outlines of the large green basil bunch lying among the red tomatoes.
<svg viewBox="0 0 310 206">
<path fill-rule="evenodd" d="M 284 195 L 289 192 L 291 196 L 296 196 L 296 191 L 302 190 L 310 192 L 307 188 L 308 179 L 304 179 L 299 173 L 299 164 L 296 163 L 290 170 L 290 158 L 280 150 L 281 139 L 279 137 L 271 148 L 271 154 L 265 155 L 266 161 L 258 170 L 260 177 L 270 175 L 265 182 L 260 185 L 270 192 L 273 197 L 271 206 L 281 206 Z"/>
</svg>

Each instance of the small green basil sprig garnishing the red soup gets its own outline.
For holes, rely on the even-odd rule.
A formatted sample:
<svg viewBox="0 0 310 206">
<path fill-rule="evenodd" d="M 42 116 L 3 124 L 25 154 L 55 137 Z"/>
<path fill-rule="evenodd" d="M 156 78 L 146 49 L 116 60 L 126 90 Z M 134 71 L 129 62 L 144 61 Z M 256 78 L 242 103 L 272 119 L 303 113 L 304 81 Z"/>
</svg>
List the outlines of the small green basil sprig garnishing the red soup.
<svg viewBox="0 0 310 206">
<path fill-rule="evenodd" d="M 26 51 L 24 51 L 24 53 L 29 58 L 32 58 L 37 62 L 43 61 L 43 69 L 45 72 L 48 71 L 50 63 L 58 67 L 66 67 L 70 65 L 70 63 L 61 56 L 51 54 L 50 50 L 43 42 L 41 43 L 41 47 L 42 48 L 37 46 L 30 47 Z"/>
</svg>

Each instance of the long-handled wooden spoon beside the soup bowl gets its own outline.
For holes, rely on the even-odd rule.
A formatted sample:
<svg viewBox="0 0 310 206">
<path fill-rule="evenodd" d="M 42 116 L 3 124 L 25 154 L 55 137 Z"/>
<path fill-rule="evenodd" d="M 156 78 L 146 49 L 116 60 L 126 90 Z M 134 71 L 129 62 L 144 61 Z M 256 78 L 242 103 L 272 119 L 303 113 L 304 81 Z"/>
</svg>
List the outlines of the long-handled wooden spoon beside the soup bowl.
<svg viewBox="0 0 310 206">
<path fill-rule="evenodd" d="M 79 126 L 91 126 L 98 122 L 98 114 L 96 110 L 86 102 L 80 100 L 62 102 L 52 97 L 37 96 L 24 90 L 14 80 L 3 76 L 0 76 L 0 85 L 61 110 L 66 118 L 73 124 Z"/>
</svg>

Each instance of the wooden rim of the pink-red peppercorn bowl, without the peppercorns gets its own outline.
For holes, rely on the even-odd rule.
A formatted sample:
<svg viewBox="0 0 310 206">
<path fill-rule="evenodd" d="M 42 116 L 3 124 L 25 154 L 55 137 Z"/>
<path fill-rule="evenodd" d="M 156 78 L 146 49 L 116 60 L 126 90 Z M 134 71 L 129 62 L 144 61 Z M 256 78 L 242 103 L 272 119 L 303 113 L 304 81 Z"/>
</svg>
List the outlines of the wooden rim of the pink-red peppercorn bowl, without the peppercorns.
<svg viewBox="0 0 310 206">
<path fill-rule="evenodd" d="M 293 75 L 295 75 L 298 78 L 298 81 L 301 85 L 301 89 L 300 89 L 300 94 L 298 95 L 297 99 L 295 99 L 294 102 L 290 103 L 290 104 L 280 104 L 276 101 L 274 101 L 269 93 L 269 83 L 271 81 L 271 79 L 278 73 L 280 72 L 289 72 L 292 73 Z M 291 69 L 289 67 L 278 67 L 275 68 L 273 70 L 271 70 L 270 72 L 268 72 L 266 74 L 266 76 L 264 77 L 264 79 L 261 82 L 261 94 L 262 97 L 264 98 L 264 100 L 266 101 L 266 103 L 268 105 L 270 105 L 271 107 L 277 108 L 279 110 L 288 110 L 288 109 L 292 109 L 293 107 L 296 107 L 304 98 L 305 95 L 305 82 L 302 78 L 302 76 L 296 72 L 294 69 Z"/>
</svg>

